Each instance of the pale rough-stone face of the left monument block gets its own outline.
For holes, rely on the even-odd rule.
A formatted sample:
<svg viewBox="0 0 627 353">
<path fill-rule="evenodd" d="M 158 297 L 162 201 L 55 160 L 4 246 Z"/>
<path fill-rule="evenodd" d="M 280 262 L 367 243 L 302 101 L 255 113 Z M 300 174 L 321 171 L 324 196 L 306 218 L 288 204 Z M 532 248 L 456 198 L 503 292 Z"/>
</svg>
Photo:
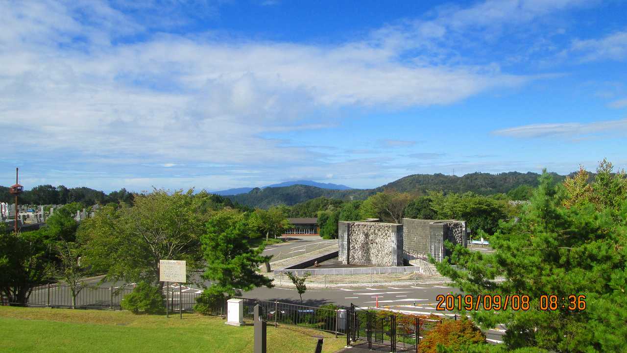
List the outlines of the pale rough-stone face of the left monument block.
<svg viewBox="0 0 627 353">
<path fill-rule="evenodd" d="M 403 266 L 402 224 L 339 222 L 338 227 L 342 263 Z"/>
</svg>

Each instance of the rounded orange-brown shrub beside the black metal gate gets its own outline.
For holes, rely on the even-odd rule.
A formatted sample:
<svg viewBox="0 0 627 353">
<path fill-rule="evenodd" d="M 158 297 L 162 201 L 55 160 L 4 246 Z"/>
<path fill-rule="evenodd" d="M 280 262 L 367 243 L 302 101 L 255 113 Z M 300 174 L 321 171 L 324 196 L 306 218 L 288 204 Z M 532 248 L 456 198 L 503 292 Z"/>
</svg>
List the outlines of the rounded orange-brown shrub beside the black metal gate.
<svg viewBox="0 0 627 353">
<path fill-rule="evenodd" d="M 420 342 L 420 352 L 437 353 L 438 345 L 447 347 L 446 352 L 461 353 L 462 345 L 485 342 L 485 335 L 465 317 L 461 320 L 444 320 L 427 332 Z"/>
</svg>

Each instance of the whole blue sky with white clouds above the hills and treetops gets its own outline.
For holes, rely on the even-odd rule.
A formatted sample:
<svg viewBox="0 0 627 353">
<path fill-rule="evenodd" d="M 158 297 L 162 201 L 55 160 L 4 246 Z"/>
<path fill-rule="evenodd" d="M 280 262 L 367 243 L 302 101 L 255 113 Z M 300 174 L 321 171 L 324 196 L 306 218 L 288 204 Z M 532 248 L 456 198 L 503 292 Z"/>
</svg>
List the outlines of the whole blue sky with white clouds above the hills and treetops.
<svg viewBox="0 0 627 353">
<path fill-rule="evenodd" d="M 627 3 L 0 1 L 0 185 L 627 166 Z M 4 182 L 2 182 L 4 180 Z"/>
</svg>

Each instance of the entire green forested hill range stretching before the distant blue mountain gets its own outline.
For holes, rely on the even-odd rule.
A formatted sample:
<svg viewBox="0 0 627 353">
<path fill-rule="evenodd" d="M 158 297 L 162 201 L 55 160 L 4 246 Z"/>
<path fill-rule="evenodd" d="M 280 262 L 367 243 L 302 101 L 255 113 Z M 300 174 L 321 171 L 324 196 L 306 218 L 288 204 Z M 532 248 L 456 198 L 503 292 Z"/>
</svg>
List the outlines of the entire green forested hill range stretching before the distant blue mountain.
<svg viewBox="0 0 627 353">
<path fill-rule="evenodd" d="M 555 182 L 562 182 L 566 178 L 566 176 L 555 173 L 552 175 Z M 388 188 L 398 192 L 410 193 L 426 193 L 428 190 L 433 190 L 445 193 L 474 192 L 481 195 L 492 195 L 494 193 L 507 193 L 520 185 L 536 187 L 539 176 L 538 173 L 519 173 L 517 171 L 500 174 L 470 173 L 464 176 L 414 174 L 374 189 L 329 190 L 307 185 L 292 185 L 277 188 L 255 188 L 249 193 L 227 197 L 238 204 L 267 208 L 273 205 L 291 206 L 321 196 L 340 200 L 364 200 L 370 195 Z"/>
</svg>

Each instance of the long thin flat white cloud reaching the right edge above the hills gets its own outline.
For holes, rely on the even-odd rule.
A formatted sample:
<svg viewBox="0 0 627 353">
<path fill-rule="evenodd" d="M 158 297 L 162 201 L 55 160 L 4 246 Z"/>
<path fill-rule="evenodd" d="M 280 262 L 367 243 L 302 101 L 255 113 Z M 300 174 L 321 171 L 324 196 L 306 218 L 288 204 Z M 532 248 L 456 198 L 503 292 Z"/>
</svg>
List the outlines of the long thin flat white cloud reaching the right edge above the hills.
<svg viewBox="0 0 627 353">
<path fill-rule="evenodd" d="M 624 134 L 625 132 L 627 132 L 627 119 L 588 123 L 531 124 L 500 129 L 492 133 L 513 138 L 586 138 L 599 134 Z"/>
</svg>

